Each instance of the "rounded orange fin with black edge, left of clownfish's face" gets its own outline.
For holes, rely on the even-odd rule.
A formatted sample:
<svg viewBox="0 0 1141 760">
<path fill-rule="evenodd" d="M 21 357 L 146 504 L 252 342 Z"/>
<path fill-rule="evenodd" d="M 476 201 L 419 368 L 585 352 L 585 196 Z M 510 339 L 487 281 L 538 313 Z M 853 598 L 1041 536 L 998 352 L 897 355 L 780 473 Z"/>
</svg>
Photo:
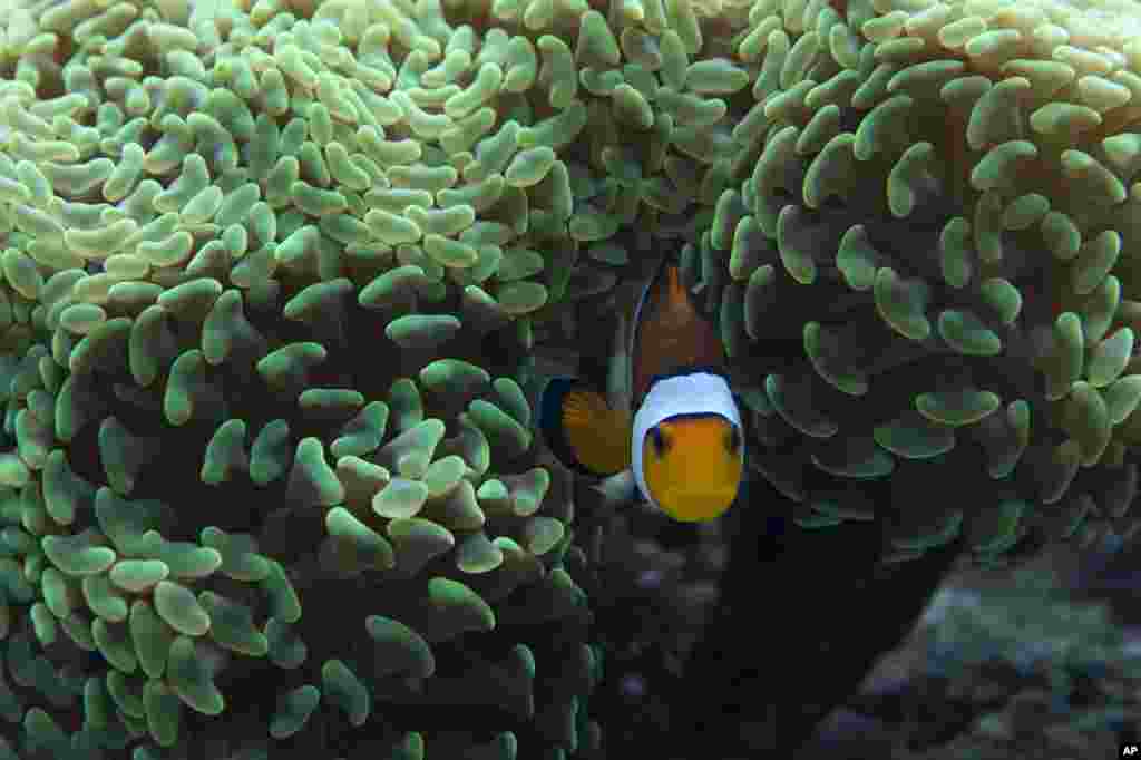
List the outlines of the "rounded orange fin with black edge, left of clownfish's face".
<svg viewBox="0 0 1141 760">
<path fill-rule="evenodd" d="M 539 430 L 567 468 L 607 477 L 630 467 L 629 412 L 581 381 L 553 378 L 539 403 Z"/>
</svg>

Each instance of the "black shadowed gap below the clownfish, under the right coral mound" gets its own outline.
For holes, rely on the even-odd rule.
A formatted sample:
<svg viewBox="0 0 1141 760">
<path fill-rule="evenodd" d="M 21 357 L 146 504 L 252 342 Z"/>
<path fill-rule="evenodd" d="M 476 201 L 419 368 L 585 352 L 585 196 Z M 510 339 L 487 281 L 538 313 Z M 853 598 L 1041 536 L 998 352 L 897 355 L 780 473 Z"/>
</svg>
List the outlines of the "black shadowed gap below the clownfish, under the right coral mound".
<svg viewBox="0 0 1141 760">
<path fill-rule="evenodd" d="M 807 531 L 769 486 L 751 496 L 718 609 L 667 700 L 671 741 L 688 752 L 677 757 L 792 757 L 899 646 L 960 553 L 954 541 L 884 565 L 887 510 Z"/>
</svg>

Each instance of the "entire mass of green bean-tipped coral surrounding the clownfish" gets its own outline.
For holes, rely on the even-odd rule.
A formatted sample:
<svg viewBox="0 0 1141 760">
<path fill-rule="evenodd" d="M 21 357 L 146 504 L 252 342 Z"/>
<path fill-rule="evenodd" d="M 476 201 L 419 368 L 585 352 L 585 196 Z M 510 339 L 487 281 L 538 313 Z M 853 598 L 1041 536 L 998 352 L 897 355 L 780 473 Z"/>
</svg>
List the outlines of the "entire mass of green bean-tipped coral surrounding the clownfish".
<svg viewBox="0 0 1141 760">
<path fill-rule="evenodd" d="M 526 389 L 647 248 L 800 526 L 1135 529 L 1135 5 L 0 2 L 21 752 L 596 753 Z"/>
</svg>

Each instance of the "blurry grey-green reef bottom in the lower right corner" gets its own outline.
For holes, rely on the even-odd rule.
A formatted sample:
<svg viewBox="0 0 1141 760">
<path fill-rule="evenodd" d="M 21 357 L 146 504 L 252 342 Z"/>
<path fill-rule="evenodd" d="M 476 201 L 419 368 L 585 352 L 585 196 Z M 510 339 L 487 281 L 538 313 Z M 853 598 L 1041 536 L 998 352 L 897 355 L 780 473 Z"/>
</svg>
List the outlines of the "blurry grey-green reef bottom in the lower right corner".
<svg viewBox="0 0 1141 760">
<path fill-rule="evenodd" d="M 893 723 L 883 757 L 1097 757 L 1136 725 L 1136 632 L 1104 604 L 1075 600 L 1059 558 L 995 577 L 962 573 L 940 590 L 898 678 L 852 708 Z M 887 672 L 887 663 L 880 670 Z M 876 684 L 879 681 L 879 684 Z"/>
</svg>

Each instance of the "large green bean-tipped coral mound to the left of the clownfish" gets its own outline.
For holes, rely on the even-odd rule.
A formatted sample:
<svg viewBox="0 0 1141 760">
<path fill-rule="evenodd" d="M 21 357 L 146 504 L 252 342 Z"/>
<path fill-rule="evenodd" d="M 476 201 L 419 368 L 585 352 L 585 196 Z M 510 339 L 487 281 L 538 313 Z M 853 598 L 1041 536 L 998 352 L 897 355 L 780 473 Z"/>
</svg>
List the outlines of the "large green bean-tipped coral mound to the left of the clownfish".
<svg viewBox="0 0 1141 760">
<path fill-rule="evenodd" d="M 424 8 L 5 6 L 5 750 L 598 749 L 529 325 L 482 346 L 568 179 L 477 145 L 532 43 Z"/>
</svg>

